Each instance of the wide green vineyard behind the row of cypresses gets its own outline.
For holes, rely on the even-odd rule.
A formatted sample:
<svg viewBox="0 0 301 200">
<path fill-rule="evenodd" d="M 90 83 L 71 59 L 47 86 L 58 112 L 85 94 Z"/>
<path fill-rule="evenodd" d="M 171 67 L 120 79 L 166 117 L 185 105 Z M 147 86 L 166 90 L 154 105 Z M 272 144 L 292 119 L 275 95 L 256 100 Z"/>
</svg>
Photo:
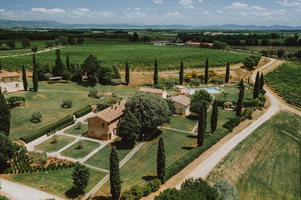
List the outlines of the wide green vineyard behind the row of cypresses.
<svg viewBox="0 0 301 200">
<path fill-rule="evenodd" d="M 36 53 L 37 63 L 48 63 L 54 66 L 56 59 L 56 50 Z M 203 68 L 206 58 L 209 59 L 209 65 L 212 67 L 226 66 L 242 62 L 248 55 L 232 53 L 227 51 L 200 49 L 195 47 L 177 47 L 177 46 L 157 46 L 146 44 L 83 44 L 60 48 L 61 59 L 66 63 L 66 54 L 68 53 L 70 63 L 79 65 L 90 55 L 96 56 L 101 65 L 116 65 L 119 69 L 125 69 L 125 63 L 128 61 L 132 71 L 152 71 L 154 70 L 155 58 L 158 62 L 160 71 L 178 70 L 181 61 L 185 68 Z M 2 68 L 8 71 L 17 71 L 22 69 L 22 65 L 29 71 L 32 70 L 33 55 L 10 56 L 1 60 Z"/>
</svg>

